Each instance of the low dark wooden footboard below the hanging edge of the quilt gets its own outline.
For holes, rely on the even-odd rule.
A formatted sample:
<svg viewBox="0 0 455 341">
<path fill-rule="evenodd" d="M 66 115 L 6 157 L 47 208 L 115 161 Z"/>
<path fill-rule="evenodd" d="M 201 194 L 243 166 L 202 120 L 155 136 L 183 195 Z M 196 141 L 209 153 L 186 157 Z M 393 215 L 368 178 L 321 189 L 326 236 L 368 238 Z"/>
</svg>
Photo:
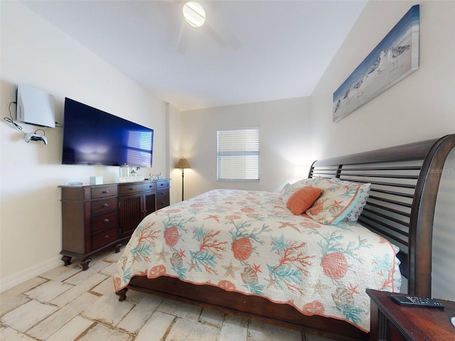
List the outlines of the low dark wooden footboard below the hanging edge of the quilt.
<svg viewBox="0 0 455 341">
<path fill-rule="evenodd" d="M 178 278 L 162 276 L 151 280 L 138 276 L 132 278 L 128 288 L 337 340 L 368 339 L 367 333 L 342 320 L 302 315 L 291 305 L 273 303 L 259 296 L 225 291 L 215 286 L 194 285 Z M 117 293 L 119 300 L 124 299 L 124 293 L 126 291 Z"/>
</svg>

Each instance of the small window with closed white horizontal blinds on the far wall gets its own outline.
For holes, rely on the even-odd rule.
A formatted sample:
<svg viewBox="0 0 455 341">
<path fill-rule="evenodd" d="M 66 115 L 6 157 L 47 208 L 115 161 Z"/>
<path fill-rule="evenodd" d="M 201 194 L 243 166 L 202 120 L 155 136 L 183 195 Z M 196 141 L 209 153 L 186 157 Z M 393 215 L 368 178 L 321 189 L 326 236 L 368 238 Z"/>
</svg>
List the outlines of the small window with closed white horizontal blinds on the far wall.
<svg viewBox="0 0 455 341">
<path fill-rule="evenodd" d="M 217 132 L 217 180 L 259 180 L 259 127 Z"/>
</svg>

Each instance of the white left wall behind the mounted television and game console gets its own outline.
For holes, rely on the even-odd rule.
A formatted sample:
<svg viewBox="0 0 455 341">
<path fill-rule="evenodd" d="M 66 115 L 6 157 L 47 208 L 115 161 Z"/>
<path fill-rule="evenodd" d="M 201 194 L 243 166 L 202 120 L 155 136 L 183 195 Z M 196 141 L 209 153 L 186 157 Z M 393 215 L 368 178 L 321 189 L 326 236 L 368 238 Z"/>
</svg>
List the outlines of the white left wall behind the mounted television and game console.
<svg viewBox="0 0 455 341">
<path fill-rule="evenodd" d="M 16 85 L 25 83 L 55 96 L 63 122 L 65 97 L 154 129 L 153 168 L 168 175 L 166 104 L 154 98 L 18 1 L 1 6 L 1 290 L 62 264 L 60 188 L 102 175 L 115 181 L 118 168 L 61 165 L 63 129 L 45 128 L 48 146 L 23 141 L 4 121 Z M 20 20 L 18 20 L 20 18 Z M 14 114 L 14 105 L 11 106 Z M 175 109 L 171 107 L 171 114 Z M 21 124 L 23 131 L 39 127 Z M 171 184 L 172 185 L 172 184 Z"/>
</svg>

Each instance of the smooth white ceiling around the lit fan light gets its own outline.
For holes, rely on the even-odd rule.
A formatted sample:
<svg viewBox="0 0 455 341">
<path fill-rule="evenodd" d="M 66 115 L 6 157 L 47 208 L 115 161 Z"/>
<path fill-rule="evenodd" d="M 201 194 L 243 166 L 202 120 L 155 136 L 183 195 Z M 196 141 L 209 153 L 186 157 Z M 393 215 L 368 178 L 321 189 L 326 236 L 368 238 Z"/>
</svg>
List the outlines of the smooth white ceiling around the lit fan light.
<svg viewBox="0 0 455 341">
<path fill-rule="evenodd" d="M 367 0 L 198 2 L 201 28 L 184 1 L 23 1 L 186 111 L 309 96 Z"/>
</svg>

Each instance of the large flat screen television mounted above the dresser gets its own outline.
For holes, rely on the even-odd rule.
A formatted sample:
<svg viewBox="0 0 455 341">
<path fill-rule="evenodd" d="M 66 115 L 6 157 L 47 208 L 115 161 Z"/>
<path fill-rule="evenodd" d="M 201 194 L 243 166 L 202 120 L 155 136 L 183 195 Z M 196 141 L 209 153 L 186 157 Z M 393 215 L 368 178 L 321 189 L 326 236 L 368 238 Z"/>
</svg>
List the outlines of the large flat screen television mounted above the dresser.
<svg viewBox="0 0 455 341">
<path fill-rule="evenodd" d="M 63 164 L 151 167 L 153 144 L 153 129 L 65 98 Z"/>
</svg>

